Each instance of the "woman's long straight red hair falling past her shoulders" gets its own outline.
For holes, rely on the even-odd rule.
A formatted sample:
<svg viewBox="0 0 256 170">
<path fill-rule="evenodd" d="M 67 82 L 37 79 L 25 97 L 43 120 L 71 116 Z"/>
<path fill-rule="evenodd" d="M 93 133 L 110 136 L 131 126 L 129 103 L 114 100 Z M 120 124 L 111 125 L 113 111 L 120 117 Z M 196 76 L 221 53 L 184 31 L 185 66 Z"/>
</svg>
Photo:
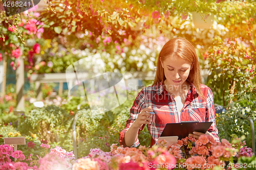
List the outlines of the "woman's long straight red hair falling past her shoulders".
<svg viewBox="0 0 256 170">
<path fill-rule="evenodd" d="M 191 66 L 193 66 L 193 68 L 189 72 L 187 80 L 194 84 L 199 95 L 204 98 L 200 89 L 200 66 L 195 47 L 185 38 L 173 38 L 164 44 L 158 56 L 156 77 L 153 85 L 166 79 L 164 75 L 164 69 L 161 66 L 161 61 L 163 62 L 167 57 L 173 56 L 179 56 L 187 60 L 191 64 Z"/>
</svg>

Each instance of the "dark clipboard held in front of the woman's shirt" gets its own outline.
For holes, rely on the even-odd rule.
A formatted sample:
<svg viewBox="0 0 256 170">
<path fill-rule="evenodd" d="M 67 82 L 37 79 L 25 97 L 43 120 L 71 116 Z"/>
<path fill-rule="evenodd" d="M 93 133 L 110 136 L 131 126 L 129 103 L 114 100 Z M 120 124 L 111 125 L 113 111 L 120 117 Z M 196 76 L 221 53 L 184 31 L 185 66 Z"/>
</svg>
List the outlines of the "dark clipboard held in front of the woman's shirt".
<svg viewBox="0 0 256 170">
<path fill-rule="evenodd" d="M 212 122 L 182 122 L 174 124 L 166 124 L 160 137 L 178 136 L 178 140 L 185 138 L 193 132 L 206 133 Z"/>
</svg>

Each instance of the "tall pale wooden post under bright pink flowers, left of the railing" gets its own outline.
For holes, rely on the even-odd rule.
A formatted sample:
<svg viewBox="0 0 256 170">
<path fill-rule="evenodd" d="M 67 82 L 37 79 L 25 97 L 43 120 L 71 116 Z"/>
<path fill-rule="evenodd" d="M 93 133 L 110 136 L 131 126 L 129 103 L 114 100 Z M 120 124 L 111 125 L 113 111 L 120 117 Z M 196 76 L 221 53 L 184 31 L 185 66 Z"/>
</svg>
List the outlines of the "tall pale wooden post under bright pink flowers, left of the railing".
<svg viewBox="0 0 256 170">
<path fill-rule="evenodd" d="M 25 98 L 23 94 L 25 77 L 24 77 L 24 60 L 18 58 L 20 61 L 19 67 L 16 70 L 16 94 L 17 94 L 17 106 L 16 109 L 25 110 Z"/>
</svg>

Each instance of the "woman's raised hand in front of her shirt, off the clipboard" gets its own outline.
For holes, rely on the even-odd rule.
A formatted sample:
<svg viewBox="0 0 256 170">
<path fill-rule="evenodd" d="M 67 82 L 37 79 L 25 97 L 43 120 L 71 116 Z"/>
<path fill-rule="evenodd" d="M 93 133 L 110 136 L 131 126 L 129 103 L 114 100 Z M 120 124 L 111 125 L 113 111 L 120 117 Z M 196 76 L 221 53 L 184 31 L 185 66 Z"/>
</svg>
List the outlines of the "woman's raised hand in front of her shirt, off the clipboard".
<svg viewBox="0 0 256 170">
<path fill-rule="evenodd" d="M 153 114 L 150 114 L 148 112 L 153 112 L 151 106 L 141 110 L 138 117 L 134 121 L 133 126 L 136 128 L 140 128 L 143 124 L 151 124 L 151 117 L 153 116 Z"/>
</svg>

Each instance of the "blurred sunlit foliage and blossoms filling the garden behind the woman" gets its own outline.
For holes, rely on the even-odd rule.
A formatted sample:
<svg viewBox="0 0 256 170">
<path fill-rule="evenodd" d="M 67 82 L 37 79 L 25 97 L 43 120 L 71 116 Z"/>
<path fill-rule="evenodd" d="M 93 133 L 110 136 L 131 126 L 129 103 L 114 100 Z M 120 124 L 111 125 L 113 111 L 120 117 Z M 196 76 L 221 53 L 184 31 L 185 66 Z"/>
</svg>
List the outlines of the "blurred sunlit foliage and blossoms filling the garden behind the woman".
<svg viewBox="0 0 256 170">
<path fill-rule="evenodd" d="M 105 71 L 127 72 L 154 71 L 162 46 L 171 38 L 188 39 L 196 48 L 204 84 L 212 88 L 216 107 L 219 137 L 231 139 L 231 134 L 245 135 L 251 147 L 251 132 L 247 118 L 255 123 L 256 85 L 256 11 L 254 1 L 51 1 L 36 17 L 31 11 L 6 17 L 0 14 L 0 53 L 12 57 L 20 48 L 25 59 L 28 78 L 32 74 L 65 72 L 79 59 L 101 54 Z M 193 14 L 201 18 L 214 15 L 209 29 L 196 28 Z M 200 19 L 201 18 L 197 18 Z M 36 19 L 36 35 L 26 29 L 28 20 Z M 5 22 L 3 22 L 5 20 Z M 32 20 L 33 21 L 33 20 Z M 44 24 L 41 24 L 44 23 Z M 23 32 L 8 30 L 16 26 Z M 31 27 L 30 27 L 31 28 Z M 44 31 L 38 31 L 39 29 Z M 29 45 L 28 40 L 33 40 Z M 33 52 L 38 43 L 40 52 Z M 29 60 L 31 59 L 31 60 Z M 1 57 L 0 57 L 1 60 Z M 11 67 L 16 68 L 17 63 Z M 144 86 L 152 80 L 142 80 Z M 26 136 L 35 143 L 34 157 L 42 152 L 42 141 L 73 150 L 72 123 L 79 114 L 76 131 L 78 155 L 82 157 L 91 148 L 110 151 L 118 143 L 119 132 L 130 116 L 130 108 L 141 89 L 127 91 L 128 99 L 120 107 L 104 114 L 93 113 L 87 103 L 77 109 L 85 99 L 68 98 L 68 91 L 51 97 L 56 84 L 42 85 L 44 108 L 35 108 L 35 85 L 25 93 L 25 114 L 14 115 L 16 105 L 15 85 L 7 86 L 7 93 L 0 98 L 0 135 Z M 217 109 L 218 108 L 218 109 Z M 254 127 L 254 129 L 256 126 Z M 3 137 L 0 137 L 3 143 Z M 256 137 L 256 136 L 255 136 Z M 139 134 L 141 145 L 149 145 L 150 134 L 145 127 Z M 27 152 L 27 145 L 20 146 Z M 27 148 L 26 148 L 27 147 Z M 28 149 L 29 150 L 29 149 Z M 27 152 L 29 153 L 29 152 Z"/>
</svg>

